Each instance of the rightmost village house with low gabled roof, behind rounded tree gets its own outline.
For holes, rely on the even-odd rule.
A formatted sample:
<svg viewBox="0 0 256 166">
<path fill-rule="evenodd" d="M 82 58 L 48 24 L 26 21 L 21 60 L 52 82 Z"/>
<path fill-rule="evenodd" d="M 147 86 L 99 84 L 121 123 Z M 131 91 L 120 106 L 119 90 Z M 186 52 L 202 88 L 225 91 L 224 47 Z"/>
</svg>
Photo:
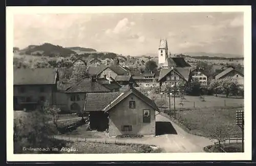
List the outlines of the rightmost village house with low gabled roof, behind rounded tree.
<svg viewBox="0 0 256 166">
<path fill-rule="evenodd" d="M 215 76 L 215 79 L 223 79 L 223 78 L 234 78 L 238 81 L 238 84 L 240 86 L 244 85 L 244 72 L 243 71 L 239 71 L 236 70 L 234 68 L 227 68 L 226 70 L 222 71 L 221 73 L 219 73 L 218 75 Z"/>
</svg>

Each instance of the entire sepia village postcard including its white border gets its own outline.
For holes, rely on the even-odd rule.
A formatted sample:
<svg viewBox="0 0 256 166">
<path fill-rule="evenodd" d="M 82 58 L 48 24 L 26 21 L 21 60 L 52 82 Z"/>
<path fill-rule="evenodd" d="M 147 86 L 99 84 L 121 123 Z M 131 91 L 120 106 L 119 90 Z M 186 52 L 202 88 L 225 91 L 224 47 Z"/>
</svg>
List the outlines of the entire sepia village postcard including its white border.
<svg viewBox="0 0 256 166">
<path fill-rule="evenodd" d="M 250 159 L 251 8 L 210 7 L 7 8 L 10 160 Z"/>
</svg>

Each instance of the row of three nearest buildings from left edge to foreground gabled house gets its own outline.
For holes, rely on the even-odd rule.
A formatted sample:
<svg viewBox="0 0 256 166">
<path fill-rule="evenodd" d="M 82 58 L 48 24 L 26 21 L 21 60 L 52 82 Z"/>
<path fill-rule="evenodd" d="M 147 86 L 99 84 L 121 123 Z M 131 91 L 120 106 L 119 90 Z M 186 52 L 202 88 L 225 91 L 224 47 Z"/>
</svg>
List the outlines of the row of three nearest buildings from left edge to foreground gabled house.
<svg viewBox="0 0 256 166">
<path fill-rule="evenodd" d="M 14 110 L 34 110 L 57 105 L 62 110 L 89 113 L 91 128 L 108 129 L 110 136 L 154 136 L 158 112 L 154 101 L 136 90 L 134 82 L 121 86 L 111 76 L 109 78 L 84 78 L 65 91 L 59 91 L 57 69 L 15 69 L 13 107 Z"/>
</svg>

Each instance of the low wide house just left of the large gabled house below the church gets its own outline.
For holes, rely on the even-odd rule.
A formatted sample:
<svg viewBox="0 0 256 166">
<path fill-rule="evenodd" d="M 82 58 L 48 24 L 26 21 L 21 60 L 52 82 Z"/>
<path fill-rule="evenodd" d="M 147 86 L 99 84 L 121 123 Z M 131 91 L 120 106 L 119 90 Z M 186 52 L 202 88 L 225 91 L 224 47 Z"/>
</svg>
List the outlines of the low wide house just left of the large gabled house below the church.
<svg viewBox="0 0 256 166">
<path fill-rule="evenodd" d="M 159 87 L 158 77 L 159 71 L 155 72 L 141 72 L 134 71 L 131 72 L 133 79 L 140 87 L 144 88 L 154 88 Z"/>
</svg>

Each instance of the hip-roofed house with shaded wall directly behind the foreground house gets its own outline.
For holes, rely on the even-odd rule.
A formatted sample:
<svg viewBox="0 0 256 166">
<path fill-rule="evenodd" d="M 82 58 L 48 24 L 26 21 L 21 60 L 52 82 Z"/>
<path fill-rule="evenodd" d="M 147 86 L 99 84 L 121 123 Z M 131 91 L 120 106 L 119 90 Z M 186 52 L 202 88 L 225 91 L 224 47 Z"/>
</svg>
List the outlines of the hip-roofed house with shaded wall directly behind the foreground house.
<svg viewBox="0 0 256 166">
<path fill-rule="evenodd" d="M 111 92 L 110 89 L 104 87 L 96 81 L 96 77 L 84 78 L 75 85 L 67 88 L 65 93 L 68 95 L 68 108 L 73 113 L 80 113 L 84 107 L 84 100 L 87 93 Z"/>
</svg>

